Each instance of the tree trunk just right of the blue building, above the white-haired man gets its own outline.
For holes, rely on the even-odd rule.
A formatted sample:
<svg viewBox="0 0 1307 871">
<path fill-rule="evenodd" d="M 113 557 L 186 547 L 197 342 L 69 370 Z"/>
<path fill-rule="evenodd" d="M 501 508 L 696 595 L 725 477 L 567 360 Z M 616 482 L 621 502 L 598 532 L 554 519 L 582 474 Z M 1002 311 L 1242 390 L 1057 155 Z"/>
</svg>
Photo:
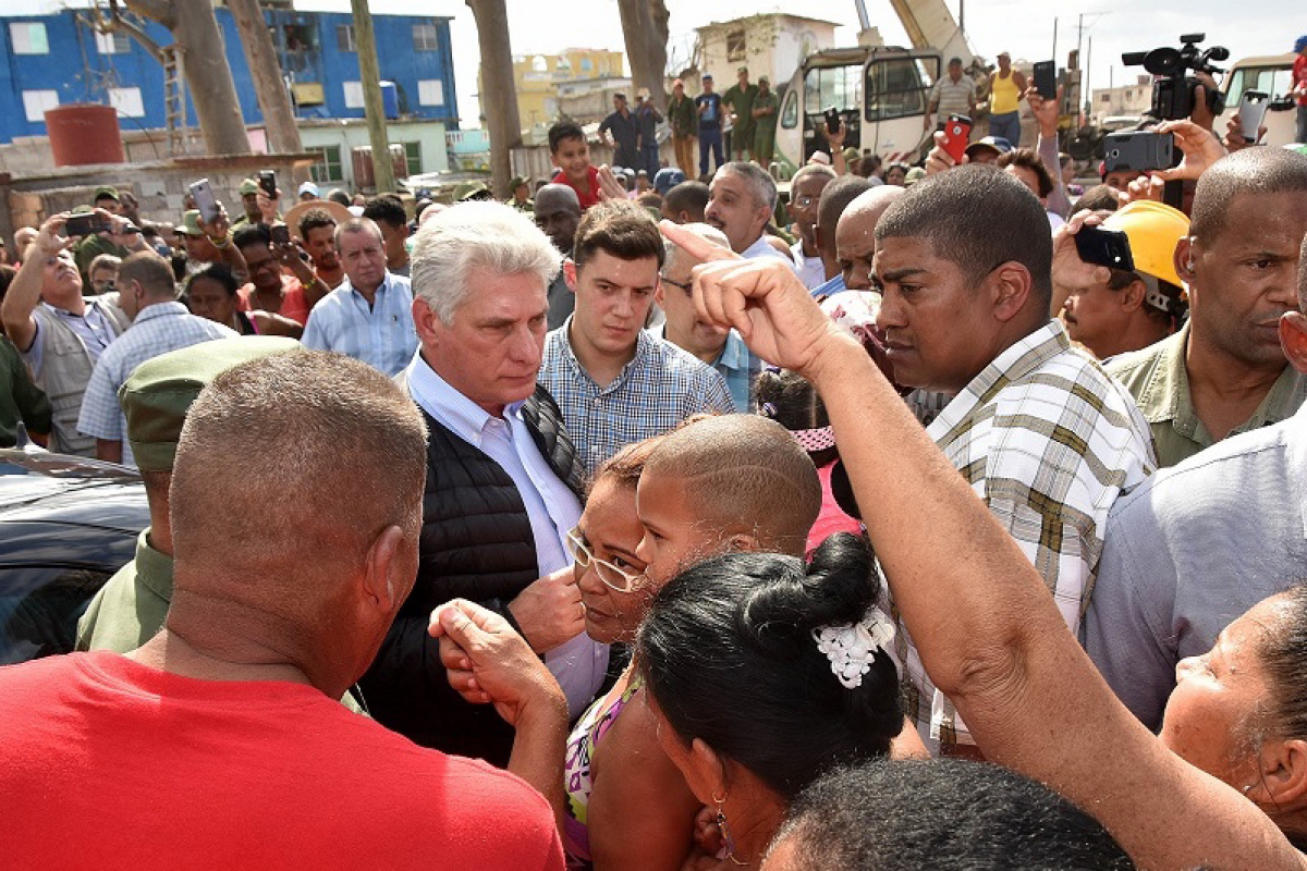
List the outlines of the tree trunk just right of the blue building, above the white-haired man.
<svg viewBox="0 0 1307 871">
<path fill-rule="evenodd" d="M 481 47 L 481 111 L 490 135 L 490 171 L 494 193 L 508 197 L 512 149 L 521 145 L 518 89 L 512 84 L 512 48 L 508 44 L 508 13 L 505 0 L 467 0 L 477 20 Z"/>
</svg>

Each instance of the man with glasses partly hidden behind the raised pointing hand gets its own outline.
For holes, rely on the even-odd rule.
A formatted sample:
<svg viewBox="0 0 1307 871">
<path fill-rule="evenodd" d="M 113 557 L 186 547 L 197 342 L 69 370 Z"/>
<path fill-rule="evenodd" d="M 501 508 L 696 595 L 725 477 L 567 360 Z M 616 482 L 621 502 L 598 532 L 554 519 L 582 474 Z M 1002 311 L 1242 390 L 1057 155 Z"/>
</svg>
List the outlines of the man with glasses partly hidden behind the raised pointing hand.
<svg viewBox="0 0 1307 871">
<path fill-rule="evenodd" d="M 694 235 L 727 247 L 725 234 L 706 223 L 681 225 Z M 749 411 L 749 388 L 758 375 L 759 360 L 749 353 L 740 333 L 710 324 L 694 308 L 694 295 L 690 293 L 694 281 L 693 269 L 702 260 L 694 257 L 676 243 L 667 242 L 667 260 L 659 273 L 654 299 L 663 307 L 667 320 L 650 332 L 684 351 L 689 351 L 715 368 L 731 390 L 731 401 L 736 411 Z"/>
</svg>

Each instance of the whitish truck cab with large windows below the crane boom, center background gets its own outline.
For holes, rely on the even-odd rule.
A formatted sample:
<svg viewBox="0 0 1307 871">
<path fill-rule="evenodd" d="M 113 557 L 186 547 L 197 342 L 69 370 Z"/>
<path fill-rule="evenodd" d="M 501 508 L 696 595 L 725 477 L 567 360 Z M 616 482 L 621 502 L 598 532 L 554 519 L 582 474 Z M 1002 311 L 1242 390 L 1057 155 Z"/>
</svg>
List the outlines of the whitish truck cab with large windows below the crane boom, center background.
<svg viewBox="0 0 1307 871">
<path fill-rule="evenodd" d="M 886 162 L 916 159 L 931 142 L 921 121 L 940 77 L 935 50 L 830 48 L 809 55 L 786 86 L 776 125 L 776 154 L 787 176 L 816 151 L 830 153 L 825 112 L 839 112 L 844 148 Z M 831 155 L 834 157 L 834 155 Z"/>
</svg>

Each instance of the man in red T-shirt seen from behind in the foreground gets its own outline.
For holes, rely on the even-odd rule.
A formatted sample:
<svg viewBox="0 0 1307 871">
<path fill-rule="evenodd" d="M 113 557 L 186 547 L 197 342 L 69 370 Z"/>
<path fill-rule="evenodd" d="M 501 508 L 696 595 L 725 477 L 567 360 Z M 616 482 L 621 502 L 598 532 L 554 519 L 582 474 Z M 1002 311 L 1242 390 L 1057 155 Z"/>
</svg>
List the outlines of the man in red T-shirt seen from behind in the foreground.
<svg viewBox="0 0 1307 871">
<path fill-rule="evenodd" d="M 176 445 L 163 629 L 0 669 L 5 864 L 562 871 L 536 790 L 336 701 L 413 586 L 425 479 L 417 406 L 365 363 L 213 377 Z M 566 734 L 546 686 L 497 697 L 519 740 Z"/>
</svg>

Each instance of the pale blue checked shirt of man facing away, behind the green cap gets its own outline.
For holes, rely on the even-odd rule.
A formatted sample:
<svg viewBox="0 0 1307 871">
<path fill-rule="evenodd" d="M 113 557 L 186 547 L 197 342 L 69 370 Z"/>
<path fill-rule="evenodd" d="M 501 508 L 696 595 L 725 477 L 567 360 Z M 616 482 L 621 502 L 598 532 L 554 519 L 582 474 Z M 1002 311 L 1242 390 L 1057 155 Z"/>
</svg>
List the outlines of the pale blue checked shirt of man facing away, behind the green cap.
<svg viewBox="0 0 1307 871">
<path fill-rule="evenodd" d="M 123 443 L 123 465 L 135 466 L 127 443 L 127 418 L 118 405 L 118 388 L 145 360 L 159 354 L 190 347 L 214 338 L 230 338 L 237 332 L 207 317 L 196 317 L 182 303 L 146 306 L 95 362 L 82 396 L 77 431 L 82 435 Z"/>
</svg>

